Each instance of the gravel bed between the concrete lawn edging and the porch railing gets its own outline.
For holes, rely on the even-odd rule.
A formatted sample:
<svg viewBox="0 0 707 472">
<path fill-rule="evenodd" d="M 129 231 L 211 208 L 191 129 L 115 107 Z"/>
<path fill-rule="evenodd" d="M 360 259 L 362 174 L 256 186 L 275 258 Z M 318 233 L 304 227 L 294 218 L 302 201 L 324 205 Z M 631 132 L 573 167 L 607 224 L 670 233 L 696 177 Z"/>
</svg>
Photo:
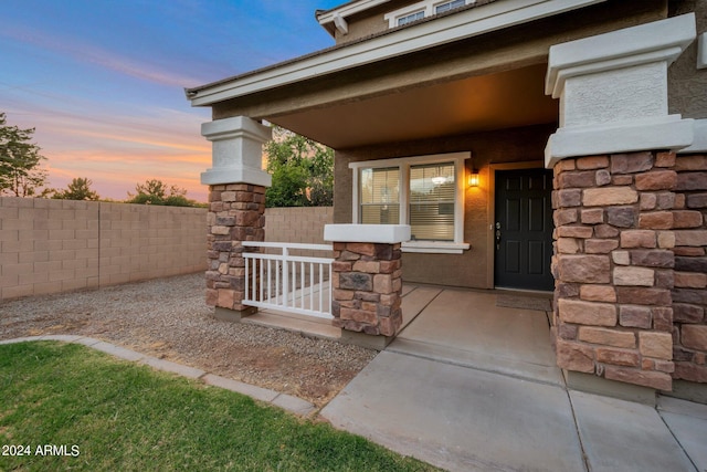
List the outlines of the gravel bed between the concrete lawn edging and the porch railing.
<svg viewBox="0 0 707 472">
<path fill-rule="evenodd" d="M 326 405 L 377 354 L 299 334 L 221 322 L 203 274 L 0 302 L 0 339 L 99 338 L 139 353 Z"/>
</svg>

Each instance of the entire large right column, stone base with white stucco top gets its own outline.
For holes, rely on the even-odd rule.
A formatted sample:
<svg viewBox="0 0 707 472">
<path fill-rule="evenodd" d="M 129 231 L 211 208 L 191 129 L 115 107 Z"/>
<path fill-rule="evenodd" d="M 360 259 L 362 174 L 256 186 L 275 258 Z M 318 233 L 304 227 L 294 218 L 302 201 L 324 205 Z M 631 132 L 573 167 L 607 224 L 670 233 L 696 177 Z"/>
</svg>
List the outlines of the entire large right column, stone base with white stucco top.
<svg viewBox="0 0 707 472">
<path fill-rule="evenodd" d="M 558 366 L 580 388 L 621 396 L 632 384 L 647 401 L 653 389 L 672 389 L 683 204 L 675 150 L 693 144 L 695 126 L 667 114 L 667 67 L 695 30 L 687 14 L 550 49 L 546 93 L 560 98 L 560 128 L 546 148 L 555 170 L 552 334 Z"/>
</svg>

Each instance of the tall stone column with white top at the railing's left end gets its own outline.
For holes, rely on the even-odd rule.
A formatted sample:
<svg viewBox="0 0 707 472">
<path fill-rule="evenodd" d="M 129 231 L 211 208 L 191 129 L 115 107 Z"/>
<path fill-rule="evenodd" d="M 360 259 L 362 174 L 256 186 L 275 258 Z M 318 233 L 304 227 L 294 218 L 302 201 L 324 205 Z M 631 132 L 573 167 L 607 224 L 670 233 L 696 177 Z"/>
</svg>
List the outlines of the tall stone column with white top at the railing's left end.
<svg viewBox="0 0 707 472">
<path fill-rule="evenodd" d="M 240 321 L 255 312 L 242 303 L 247 274 L 241 242 L 265 239 L 271 176 L 262 170 L 262 149 L 272 132 L 236 116 L 204 123 L 201 134 L 213 143 L 212 167 L 201 174 L 209 186 L 207 304 L 218 318 Z"/>
</svg>

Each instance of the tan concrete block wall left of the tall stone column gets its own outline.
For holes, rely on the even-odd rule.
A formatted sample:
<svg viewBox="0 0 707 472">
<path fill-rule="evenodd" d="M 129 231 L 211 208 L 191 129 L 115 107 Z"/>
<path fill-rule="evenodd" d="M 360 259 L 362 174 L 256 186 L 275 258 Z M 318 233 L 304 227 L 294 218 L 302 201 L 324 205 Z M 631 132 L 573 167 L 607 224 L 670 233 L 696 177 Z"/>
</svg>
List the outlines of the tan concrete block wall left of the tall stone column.
<svg viewBox="0 0 707 472">
<path fill-rule="evenodd" d="M 205 269 L 207 210 L 0 198 L 0 300 Z"/>
</svg>

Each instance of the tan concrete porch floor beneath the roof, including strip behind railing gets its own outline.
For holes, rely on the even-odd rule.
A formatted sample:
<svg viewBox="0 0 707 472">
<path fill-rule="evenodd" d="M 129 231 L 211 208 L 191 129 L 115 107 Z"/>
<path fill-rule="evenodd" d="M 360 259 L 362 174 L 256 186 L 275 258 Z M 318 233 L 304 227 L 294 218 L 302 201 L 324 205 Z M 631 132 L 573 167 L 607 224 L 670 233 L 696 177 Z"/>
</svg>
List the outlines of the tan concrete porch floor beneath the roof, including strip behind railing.
<svg viewBox="0 0 707 472">
<path fill-rule="evenodd" d="M 403 324 L 386 350 L 562 385 L 550 340 L 551 311 L 550 295 L 403 284 Z M 341 338 L 330 321 L 292 312 L 261 310 L 243 323 Z"/>
</svg>

